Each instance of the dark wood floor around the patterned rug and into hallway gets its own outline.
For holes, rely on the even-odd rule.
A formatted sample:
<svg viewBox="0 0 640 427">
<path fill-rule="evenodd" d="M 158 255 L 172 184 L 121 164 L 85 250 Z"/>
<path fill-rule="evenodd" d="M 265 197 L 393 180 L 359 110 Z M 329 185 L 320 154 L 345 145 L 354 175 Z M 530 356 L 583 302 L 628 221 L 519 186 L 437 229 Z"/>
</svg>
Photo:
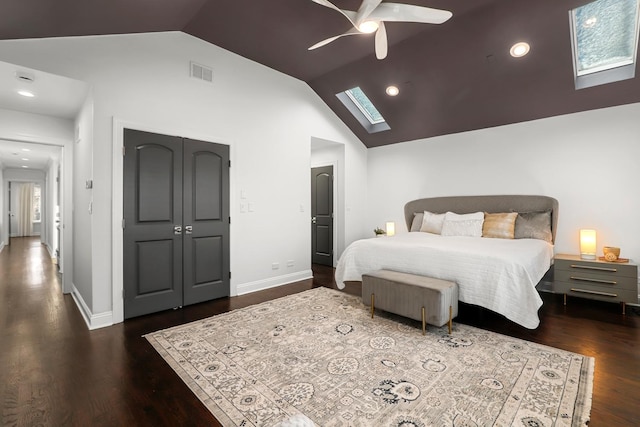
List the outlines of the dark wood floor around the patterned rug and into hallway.
<svg viewBox="0 0 640 427">
<path fill-rule="evenodd" d="M 88 331 L 39 241 L 0 253 L 0 421 L 3 426 L 219 426 L 143 334 L 301 292 L 314 279 Z M 358 284 L 347 291 L 359 294 Z M 463 305 L 456 319 L 596 358 L 590 426 L 640 425 L 640 316 L 615 304 L 543 294 L 541 326 L 527 330 Z"/>
</svg>

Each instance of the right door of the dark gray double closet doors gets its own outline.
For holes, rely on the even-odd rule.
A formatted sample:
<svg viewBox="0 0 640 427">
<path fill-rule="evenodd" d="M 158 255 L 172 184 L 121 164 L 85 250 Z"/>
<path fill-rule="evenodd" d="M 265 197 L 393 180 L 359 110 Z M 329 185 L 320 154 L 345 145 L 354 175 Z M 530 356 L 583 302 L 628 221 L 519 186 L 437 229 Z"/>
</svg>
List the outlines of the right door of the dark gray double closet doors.
<svg viewBox="0 0 640 427">
<path fill-rule="evenodd" d="M 185 140 L 184 304 L 229 296 L 229 147 Z"/>
</svg>

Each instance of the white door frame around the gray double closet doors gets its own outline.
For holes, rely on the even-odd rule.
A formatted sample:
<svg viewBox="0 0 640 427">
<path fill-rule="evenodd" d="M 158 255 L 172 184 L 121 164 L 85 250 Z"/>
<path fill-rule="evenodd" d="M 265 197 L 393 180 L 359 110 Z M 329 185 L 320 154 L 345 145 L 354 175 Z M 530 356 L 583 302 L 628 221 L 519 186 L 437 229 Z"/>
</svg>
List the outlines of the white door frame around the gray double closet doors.
<svg viewBox="0 0 640 427">
<path fill-rule="evenodd" d="M 124 233 L 122 230 L 122 220 L 124 218 L 124 201 L 122 186 L 124 184 L 124 159 L 122 150 L 124 147 L 124 129 L 134 129 L 143 132 L 159 133 L 163 135 L 180 135 L 183 138 L 197 139 L 200 141 L 208 141 L 215 144 L 229 146 L 229 159 L 231 166 L 235 164 L 235 144 L 228 138 L 194 132 L 193 129 L 180 128 L 179 126 L 160 127 L 149 125 L 142 122 L 133 122 L 118 117 L 112 118 L 112 182 L 111 182 L 111 282 L 112 282 L 112 302 L 111 302 L 111 318 L 112 322 L 122 323 L 124 321 L 124 277 L 123 277 L 123 256 L 124 256 Z M 229 213 L 232 217 L 237 217 L 237 203 L 235 191 L 235 168 L 229 169 Z M 229 245 L 233 247 L 233 222 L 229 226 Z M 233 270 L 233 250 L 230 250 L 229 264 Z M 231 296 L 237 295 L 237 285 L 233 278 L 230 279 Z"/>
</svg>

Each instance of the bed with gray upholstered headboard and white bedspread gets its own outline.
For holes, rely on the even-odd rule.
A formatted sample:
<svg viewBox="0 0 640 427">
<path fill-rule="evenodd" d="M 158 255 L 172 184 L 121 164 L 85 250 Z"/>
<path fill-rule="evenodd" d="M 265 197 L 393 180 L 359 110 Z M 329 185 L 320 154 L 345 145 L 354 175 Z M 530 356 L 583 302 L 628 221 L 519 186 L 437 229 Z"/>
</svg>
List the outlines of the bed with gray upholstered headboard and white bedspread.
<svg viewBox="0 0 640 427">
<path fill-rule="evenodd" d="M 407 230 L 416 230 L 414 220 L 425 211 L 517 213 L 516 227 L 530 225 L 528 219 L 537 215 L 536 220 L 548 218 L 548 230 L 541 235 L 539 230 L 516 228 L 519 238 L 443 236 L 414 231 L 358 240 L 345 249 L 338 261 L 338 287 L 343 289 L 345 281 L 361 281 L 363 274 L 379 269 L 451 280 L 458 284 L 460 301 L 495 311 L 526 328 L 537 328 L 542 299 L 535 287 L 552 264 L 557 200 L 533 195 L 419 199 L 405 205 Z"/>
</svg>

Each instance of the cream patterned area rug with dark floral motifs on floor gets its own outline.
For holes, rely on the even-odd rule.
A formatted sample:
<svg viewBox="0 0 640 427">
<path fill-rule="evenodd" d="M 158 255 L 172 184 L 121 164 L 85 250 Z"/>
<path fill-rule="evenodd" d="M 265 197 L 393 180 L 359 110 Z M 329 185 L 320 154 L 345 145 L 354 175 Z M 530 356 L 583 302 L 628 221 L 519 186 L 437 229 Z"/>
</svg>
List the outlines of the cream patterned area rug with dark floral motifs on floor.
<svg viewBox="0 0 640 427">
<path fill-rule="evenodd" d="M 146 336 L 224 426 L 583 426 L 594 359 L 317 288 Z"/>
</svg>

